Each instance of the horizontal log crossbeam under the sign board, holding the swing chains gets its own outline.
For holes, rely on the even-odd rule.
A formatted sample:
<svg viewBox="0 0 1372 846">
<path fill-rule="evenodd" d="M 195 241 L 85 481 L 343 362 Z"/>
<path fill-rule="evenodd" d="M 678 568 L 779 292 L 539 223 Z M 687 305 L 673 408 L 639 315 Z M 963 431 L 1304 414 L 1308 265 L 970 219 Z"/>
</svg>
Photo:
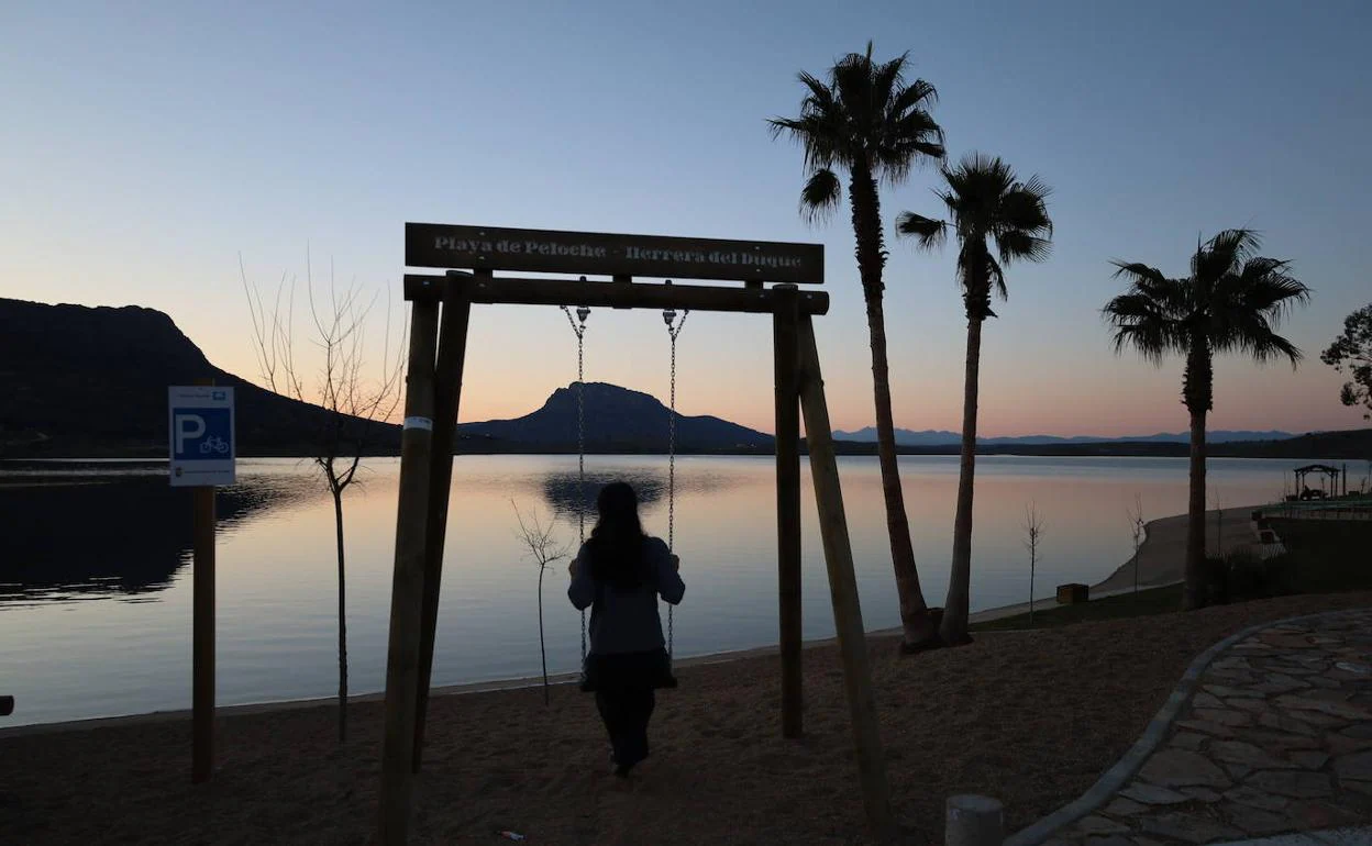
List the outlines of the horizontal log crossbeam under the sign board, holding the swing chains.
<svg viewBox="0 0 1372 846">
<path fill-rule="evenodd" d="M 443 299 L 449 277 L 405 276 L 405 299 Z M 630 281 L 591 282 L 580 280 L 487 278 L 471 280 L 472 302 L 510 306 L 595 306 L 613 309 L 690 309 L 691 311 L 745 311 L 770 314 L 777 310 L 775 288 L 727 288 L 724 285 L 657 285 Z M 801 314 L 826 314 L 829 295 L 801 291 Z"/>
</svg>

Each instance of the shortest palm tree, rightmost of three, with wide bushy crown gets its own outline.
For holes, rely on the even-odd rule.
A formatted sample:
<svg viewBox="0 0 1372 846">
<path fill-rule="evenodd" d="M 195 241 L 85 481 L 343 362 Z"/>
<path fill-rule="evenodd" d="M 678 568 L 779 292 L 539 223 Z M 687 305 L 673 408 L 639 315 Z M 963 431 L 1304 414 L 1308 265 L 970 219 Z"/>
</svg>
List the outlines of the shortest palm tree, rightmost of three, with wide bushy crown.
<svg viewBox="0 0 1372 846">
<path fill-rule="evenodd" d="M 1114 262 L 1115 278 L 1129 282 L 1111 299 L 1104 317 L 1114 329 L 1115 352 L 1133 347 L 1162 365 L 1185 356 L 1181 403 L 1191 413 L 1191 499 L 1187 509 L 1187 610 L 1200 607 L 1205 565 L 1205 418 L 1211 409 L 1217 352 L 1242 352 L 1258 363 L 1286 358 L 1295 367 L 1301 351 L 1275 332 L 1294 303 L 1310 289 L 1290 276 L 1290 262 L 1255 255 L 1258 236 L 1227 229 L 1196 245 L 1191 274 L 1168 278 L 1140 263 Z"/>
</svg>

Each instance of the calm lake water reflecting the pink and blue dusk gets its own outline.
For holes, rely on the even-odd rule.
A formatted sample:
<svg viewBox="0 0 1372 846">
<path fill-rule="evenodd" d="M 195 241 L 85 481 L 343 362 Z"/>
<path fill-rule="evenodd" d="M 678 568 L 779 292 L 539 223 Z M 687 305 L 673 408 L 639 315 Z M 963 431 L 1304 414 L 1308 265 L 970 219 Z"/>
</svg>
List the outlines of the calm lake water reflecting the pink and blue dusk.
<svg viewBox="0 0 1372 846">
<path fill-rule="evenodd" d="M 915 554 L 941 605 L 952 544 L 956 457 L 901 458 Z M 1275 499 L 1297 461 L 1211 459 L 1225 507 Z M 867 628 L 899 624 L 875 459 L 841 459 Z M 369 462 L 346 499 L 351 690 L 383 687 L 399 465 Z M 595 481 L 628 479 L 645 522 L 665 535 L 665 461 L 591 457 Z M 807 638 L 833 633 L 808 468 L 804 488 Z M 1353 468 L 1350 468 L 1353 472 Z M 676 548 L 687 584 L 679 655 L 777 640 L 771 458 L 678 461 Z M 332 507 L 305 462 L 240 462 L 221 495 L 218 701 L 336 692 Z M 1036 587 L 1093 583 L 1131 553 L 1128 509 L 1148 520 L 1185 510 L 1185 459 L 978 458 L 973 610 L 1028 598 L 1024 509 L 1047 521 Z M 181 709 L 191 705 L 189 510 L 165 480 L 0 488 L 0 692 L 18 708 L 0 725 Z M 575 457 L 461 457 L 453 472 L 435 684 L 538 672 L 536 568 L 514 536 L 512 500 L 556 518 L 576 540 Z M 576 666 L 579 618 L 565 565 L 545 590 L 549 668 Z"/>
</svg>

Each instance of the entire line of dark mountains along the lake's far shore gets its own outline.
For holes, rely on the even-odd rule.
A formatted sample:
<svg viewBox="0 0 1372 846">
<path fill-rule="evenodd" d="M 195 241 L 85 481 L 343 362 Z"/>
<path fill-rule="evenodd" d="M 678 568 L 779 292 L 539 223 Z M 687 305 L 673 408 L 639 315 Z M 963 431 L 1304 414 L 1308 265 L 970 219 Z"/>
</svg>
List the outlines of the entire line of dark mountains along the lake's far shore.
<svg viewBox="0 0 1372 846">
<path fill-rule="evenodd" d="M 331 420 L 318 406 L 265 391 L 221 370 L 161 311 L 88 309 L 0 299 L 0 458 L 156 458 L 167 450 L 166 388 L 213 377 L 236 388 L 240 455 L 309 455 Z M 584 387 L 586 450 L 664 452 L 668 410 L 656 398 L 604 383 Z M 457 452 L 573 452 L 576 385 L 557 388 L 513 420 L 458 426 Z M 365 424 L 368 454 L 395 455 L 401 428 Z M 837 451 L 875 452 L 875 433 L 836 432 Z M 1372 429 L 1210 432 L 1210 455 L 1372 457 Z M 1185 455 L 1183 435 L 1136 439 L 992 437 L 978 452 L 1017 455 Z M 958 452 L 955 432 L 900 431 L 906 454 Z M 766 455 L 772 436 L 718 417 L 678 417 L 682 452 Z M 804 447 L 803 447 L 804 448 Z"/>
</svg>

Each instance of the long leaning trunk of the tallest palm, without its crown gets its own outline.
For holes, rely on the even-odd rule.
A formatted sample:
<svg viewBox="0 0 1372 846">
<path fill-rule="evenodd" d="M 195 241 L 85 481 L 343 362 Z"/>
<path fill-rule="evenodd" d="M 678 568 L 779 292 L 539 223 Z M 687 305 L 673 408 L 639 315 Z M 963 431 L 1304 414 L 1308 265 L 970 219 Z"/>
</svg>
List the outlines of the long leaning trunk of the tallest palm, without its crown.
<svg viewBox="0 0 1372 846">
<path fill-rule="evenodd" d="M 890 367 L 886 361 L 886 318 L 882 311 L 882 266 L 885 254 L 881 236 L 881 200 L 877 182 L 855 169 L 849 182 L 853 234 L 858 240 L 858 271 L 867 303 L 867 332 L 871 340 L 871 381 L 877 406 L 877 459 L 881 465 L 881 491 L 886 502 L 886 532 L 890 536 L 890 564 L 896 573 L 900 602 L 901 647 L 914 651 L 934 639 L 929 606 L 919 587 L 915 548 L 910 540 L 910 518 L 900 487 L 896 461 L 896 426 L 890 413 Z"/>
</svg>

